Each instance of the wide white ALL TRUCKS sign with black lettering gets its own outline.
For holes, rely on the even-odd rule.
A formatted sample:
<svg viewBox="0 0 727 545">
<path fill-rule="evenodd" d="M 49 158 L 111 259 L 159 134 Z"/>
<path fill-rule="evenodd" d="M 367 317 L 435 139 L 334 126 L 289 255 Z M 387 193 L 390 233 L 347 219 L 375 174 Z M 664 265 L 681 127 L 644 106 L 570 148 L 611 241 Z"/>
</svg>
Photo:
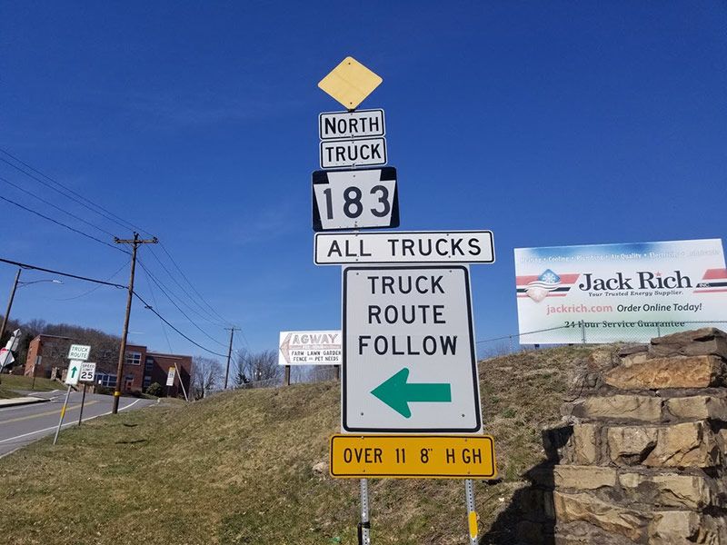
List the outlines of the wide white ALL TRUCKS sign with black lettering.
<svg viewBox="0 0 727 545">
<path fill-rule="evenodd" d="M 494 263 L 492 231 L 316 233 L 317 265 Z"/>
</svg>

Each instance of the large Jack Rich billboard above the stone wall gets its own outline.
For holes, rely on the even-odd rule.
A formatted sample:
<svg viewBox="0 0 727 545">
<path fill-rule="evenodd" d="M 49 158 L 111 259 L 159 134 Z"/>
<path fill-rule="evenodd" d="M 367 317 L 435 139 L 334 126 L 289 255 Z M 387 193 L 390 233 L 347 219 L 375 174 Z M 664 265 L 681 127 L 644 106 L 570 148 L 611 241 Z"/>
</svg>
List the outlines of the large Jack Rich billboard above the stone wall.
<svg viewBox="0 0 727 545">
<path fill-rule="evenodd" d="M 515 275 L 522 344 L 647 342 L 727 320 L 721 239 L 516 248 Z"/>
</svg>

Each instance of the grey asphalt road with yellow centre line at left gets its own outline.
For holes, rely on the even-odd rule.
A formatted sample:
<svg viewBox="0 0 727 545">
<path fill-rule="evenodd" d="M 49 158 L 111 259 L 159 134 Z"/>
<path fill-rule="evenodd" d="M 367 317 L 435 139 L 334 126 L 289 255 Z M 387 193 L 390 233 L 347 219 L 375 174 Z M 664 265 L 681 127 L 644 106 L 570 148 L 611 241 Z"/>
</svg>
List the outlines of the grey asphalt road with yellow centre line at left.
<svg viewBox="0 0 727 545">
<path fill-rule="evenodd" d="M 0 458 L 41 437 L 55 434 L 65 400 L 65 391 L 34 391 L 33 395 L 51 401 L 0 409 Z M 113 398 L 110 395 L 87 393 L 83 420 L 87 421 L 110 414 L 112 402 Z M 119 401 L 119 411 L 134 411 L 153 405 L 155 402 L 123 397 Z M 71 391 L 68 408 L 65 410 L 63 428 L 75 426 L 78 423 L 80 409 L 81 392 Z M 63 440 L 63 428 L 58 441 Z"/>
</svg>

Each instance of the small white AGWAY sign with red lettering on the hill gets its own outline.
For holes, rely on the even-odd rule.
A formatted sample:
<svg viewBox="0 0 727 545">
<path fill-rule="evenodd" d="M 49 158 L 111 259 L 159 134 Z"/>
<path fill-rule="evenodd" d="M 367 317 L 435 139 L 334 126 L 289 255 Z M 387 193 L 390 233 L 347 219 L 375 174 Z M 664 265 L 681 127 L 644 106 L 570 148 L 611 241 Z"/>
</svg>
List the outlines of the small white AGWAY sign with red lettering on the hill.
<svg viewBox="0 0 727 545">
<path fill-rule="evenodd" d="M 340 365 L 341 332 L 280 332 L 279 365 Z"/>
</svg>

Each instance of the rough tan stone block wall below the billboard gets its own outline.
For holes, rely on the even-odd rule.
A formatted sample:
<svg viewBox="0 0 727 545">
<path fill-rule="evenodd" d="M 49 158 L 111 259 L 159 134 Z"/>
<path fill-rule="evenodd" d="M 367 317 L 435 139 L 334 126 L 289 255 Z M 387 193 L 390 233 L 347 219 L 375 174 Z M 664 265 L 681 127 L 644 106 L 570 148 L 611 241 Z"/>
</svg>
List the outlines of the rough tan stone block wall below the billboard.
<svg viewBox="0 0 727 545">
<path fill-rule="evenodd" d="M 727 545 L 727 335 L 594 352 L 575 386 L 543 433 L 520 540 Z"/>
</svg>

